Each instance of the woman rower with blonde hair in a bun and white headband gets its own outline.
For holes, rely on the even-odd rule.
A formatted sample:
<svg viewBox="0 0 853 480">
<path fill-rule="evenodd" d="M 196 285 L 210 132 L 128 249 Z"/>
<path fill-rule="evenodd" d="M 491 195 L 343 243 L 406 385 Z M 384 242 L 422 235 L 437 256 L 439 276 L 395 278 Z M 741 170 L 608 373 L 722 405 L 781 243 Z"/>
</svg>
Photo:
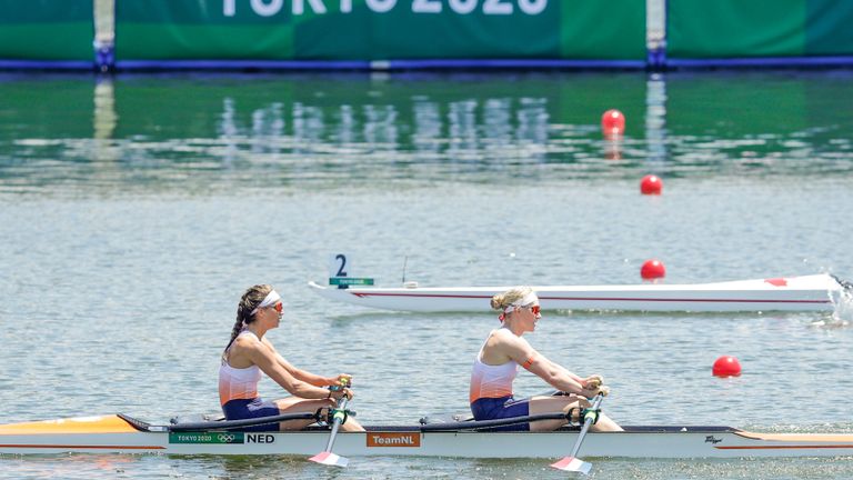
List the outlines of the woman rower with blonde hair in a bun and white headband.
<svg viewBox="0 0 853 480">
<path fill-rule="evenodd" d="M 532 332 L 542 316 L 539 313 L 539 298 L 530 287 L 518 287 L 492 297 L 492 308 L 500 310 L 501 328 L 492 330 L 474 360 L 471 372 L 471 412 L 474 420 L 493 420 L 525 417 L 562 411 L 566 414 L 575 409 L 576 420 L 581 409 L 590 407 L 591 399 L 609 389 L 601 376 L 578 377 L 563 367 L 546 359 L 522 339 L 524 332 Z M 516 400 L 512 394 L 519 366 L 540 377 L 562 396 L 532 397 Z M 543 420 L 518 423 L 495 430 L 556 430 L 566 420 Z M 621 431 L 613 420 L 604 416 L 591 427 L 593 431 Z"/>
</svg>

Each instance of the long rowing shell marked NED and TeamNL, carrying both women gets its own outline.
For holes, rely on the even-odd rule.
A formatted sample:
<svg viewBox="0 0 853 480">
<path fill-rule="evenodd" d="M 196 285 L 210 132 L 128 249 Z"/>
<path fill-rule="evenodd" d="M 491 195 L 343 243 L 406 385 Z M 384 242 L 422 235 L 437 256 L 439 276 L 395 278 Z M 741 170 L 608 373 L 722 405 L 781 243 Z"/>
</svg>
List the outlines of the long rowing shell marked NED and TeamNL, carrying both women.
<svg viewBox="0 0 853 480">
<path fill-rule="evenodd" d="M 429 429 L 426 428 L 429 427 Z M 340 432 L 338 454 L 462 458 L 559 458 L 576 428 L 554 432 L 442 430 L 435 426 L 367 427 Z M 294 454 L 321 451 L 328 428 L 295 432 L 170 431 L 127 416 L 0 426 L 0 453 L 124 452 L 165 454 Z M 765 434 L 729 427 L 625 427 L 588 433 L 581 454 L 622 458 L 844 457 L 853 434 Z"/>
</svg>

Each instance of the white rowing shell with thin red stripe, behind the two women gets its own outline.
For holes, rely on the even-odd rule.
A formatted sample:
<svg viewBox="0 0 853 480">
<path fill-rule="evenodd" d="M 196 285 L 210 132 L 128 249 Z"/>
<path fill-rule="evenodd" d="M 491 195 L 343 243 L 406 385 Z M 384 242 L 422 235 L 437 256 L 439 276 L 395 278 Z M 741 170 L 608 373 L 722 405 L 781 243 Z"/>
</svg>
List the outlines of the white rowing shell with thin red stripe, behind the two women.
<svg viewBox="0 0 853 480">
<path fill-rule="evenodd" d="M 383 310 L 488 312 L 495 293 L 512 287 L 327 288 L 309 282 L 330 300 Z M 832 311 L 844 290 L 829 274 L 693 284 L 533 287 L 543 309 L 624 311 Z"/>
</svg>

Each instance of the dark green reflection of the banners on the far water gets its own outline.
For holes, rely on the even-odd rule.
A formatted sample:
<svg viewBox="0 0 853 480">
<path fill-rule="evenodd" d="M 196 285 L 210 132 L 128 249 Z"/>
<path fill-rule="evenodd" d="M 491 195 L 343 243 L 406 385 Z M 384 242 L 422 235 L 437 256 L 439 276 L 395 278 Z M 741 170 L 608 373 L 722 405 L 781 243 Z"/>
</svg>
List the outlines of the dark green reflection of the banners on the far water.
<svg viewBox="0 0 853 480">
<path fill-rule="evenodd" d="M 851 77 L 4 76 L 0 191 L 849 172 Z"/>
</svg>

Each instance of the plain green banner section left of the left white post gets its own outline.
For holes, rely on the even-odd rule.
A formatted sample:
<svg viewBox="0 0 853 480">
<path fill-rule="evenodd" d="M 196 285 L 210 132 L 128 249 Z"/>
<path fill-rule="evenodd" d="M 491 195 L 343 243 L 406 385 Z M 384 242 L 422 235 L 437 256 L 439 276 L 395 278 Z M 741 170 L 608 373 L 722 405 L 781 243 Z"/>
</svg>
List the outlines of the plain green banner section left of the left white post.
<svg viewBox="0 0 853 480">
<path fill-rule="evenodd" d="M 0 59 L 92 60 L 92 0 L 0 0 Z"/>
</svg>

